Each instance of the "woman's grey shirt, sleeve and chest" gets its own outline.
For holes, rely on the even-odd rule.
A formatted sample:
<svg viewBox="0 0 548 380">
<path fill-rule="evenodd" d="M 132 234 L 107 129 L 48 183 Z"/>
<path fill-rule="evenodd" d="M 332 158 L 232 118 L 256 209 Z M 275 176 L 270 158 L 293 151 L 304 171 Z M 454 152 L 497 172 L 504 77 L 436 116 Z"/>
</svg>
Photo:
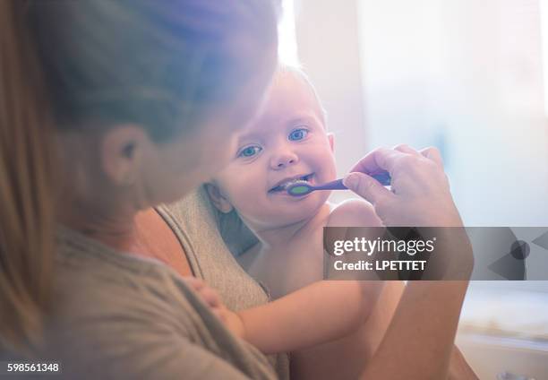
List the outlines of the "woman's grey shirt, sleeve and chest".
<svg viewBox="0 0 548 380">
<path fill-rule="evenodd" d="M 158 209 L 194 274 L 234 310 L 266 302 L 223 246 L 202 201 L 192 194 Z M 47 356 L 62 362 L 65 377 L 271 379 L 277 377 L 273 365 L 280 378 L 288 377 L 286 356 L 269 362 L 235 338 L 163 263 L 59 229 L 54 288 Z"/>
</svg>

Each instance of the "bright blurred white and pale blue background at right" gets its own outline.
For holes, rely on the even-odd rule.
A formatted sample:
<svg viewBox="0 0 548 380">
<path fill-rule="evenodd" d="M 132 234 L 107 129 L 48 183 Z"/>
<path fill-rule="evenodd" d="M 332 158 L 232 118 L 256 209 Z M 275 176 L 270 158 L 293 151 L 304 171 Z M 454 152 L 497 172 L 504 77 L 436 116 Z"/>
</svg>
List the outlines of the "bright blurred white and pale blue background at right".
<svg viewBox="0 0 548 380">
<path fill-rule="evenodd" d="M 548 0 L 283 5 L 280 59 L 316 86 L 340 176 L 434 145 L 467 226 L 548 226 Z M 548 281 L 475 281 L 458 345 L 481 378 L 548 379 Z"/>
</svg>

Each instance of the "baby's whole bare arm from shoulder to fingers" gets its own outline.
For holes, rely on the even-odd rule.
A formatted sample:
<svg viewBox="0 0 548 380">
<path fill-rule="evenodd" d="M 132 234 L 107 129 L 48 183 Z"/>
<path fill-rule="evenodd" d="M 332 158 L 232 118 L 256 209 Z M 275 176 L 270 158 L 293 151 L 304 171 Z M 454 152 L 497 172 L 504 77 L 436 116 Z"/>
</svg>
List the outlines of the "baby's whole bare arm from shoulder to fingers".
<svg viewBox="0 0 548 380">
<path fill-rule="evenodd" d="M 331 212 L 328 225 L 380 224 L 371 205 L 349 201 Z M 371 314 L 382 286 L 381 281 L 318 281 L 238 313 L 212 297 L 207 287 L 197 290 L 229 330 L 268 354 L 302 350 L 355 332 Z"/>
</svg>

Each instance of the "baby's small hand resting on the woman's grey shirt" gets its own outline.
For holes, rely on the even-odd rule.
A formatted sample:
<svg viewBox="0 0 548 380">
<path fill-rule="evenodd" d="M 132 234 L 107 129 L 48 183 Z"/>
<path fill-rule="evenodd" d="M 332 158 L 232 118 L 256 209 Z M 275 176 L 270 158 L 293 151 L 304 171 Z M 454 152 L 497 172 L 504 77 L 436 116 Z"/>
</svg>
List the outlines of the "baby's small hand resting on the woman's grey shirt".
<svg viewBox="0 0 548 380">
<path fill-rule="evenodd" d="M 244 323 L 242 319 L 222 303 L 215 289 L 210 288 L 204 281 L 195 277 L 184 277 L 184 281 L 193 288 L 201 300 L 210 307 L 211 312 L 227 327 L 230 332 L 240 338 L 244 338 Z"/>
</svg>

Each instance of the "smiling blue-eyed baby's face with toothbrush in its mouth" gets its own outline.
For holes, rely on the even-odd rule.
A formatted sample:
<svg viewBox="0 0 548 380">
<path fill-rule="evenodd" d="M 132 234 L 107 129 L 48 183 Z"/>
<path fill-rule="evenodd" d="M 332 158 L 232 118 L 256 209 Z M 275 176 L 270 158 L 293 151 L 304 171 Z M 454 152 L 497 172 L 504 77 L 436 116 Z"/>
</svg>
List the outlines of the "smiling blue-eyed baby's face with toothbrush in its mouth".
<svg viewBox="0 0 548 380">
<path fill-rule="evenodd" d="M 332 135 L 327 134 L 312 89 L 294 73 L 279 74 L 261 115 L 238 138 L 234 158 L 215 178 L 221 194 L 254 229 L 309 218 L 329 192 L 294 197 L 283 184 L 312 185 L 336 177 Z"/>
</svg>

